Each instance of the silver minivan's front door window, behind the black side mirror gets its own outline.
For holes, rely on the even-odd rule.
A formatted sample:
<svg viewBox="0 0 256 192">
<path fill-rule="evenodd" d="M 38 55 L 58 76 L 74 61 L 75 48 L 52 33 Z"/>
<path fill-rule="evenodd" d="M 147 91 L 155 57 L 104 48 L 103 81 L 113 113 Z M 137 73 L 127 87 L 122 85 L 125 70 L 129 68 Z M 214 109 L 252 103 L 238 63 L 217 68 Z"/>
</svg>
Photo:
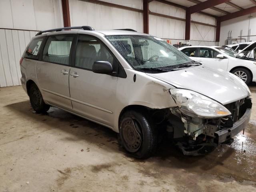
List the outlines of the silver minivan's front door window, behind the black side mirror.
<svg viewBox="0 0 256 192">
<path fill-rule="evenodd" d="M 114 57 L 98 38 L 90 35 L 79 35 L 75 66 L 92 70 L 95 61 L 108 61 L 113 66 Z"/>
</svg>

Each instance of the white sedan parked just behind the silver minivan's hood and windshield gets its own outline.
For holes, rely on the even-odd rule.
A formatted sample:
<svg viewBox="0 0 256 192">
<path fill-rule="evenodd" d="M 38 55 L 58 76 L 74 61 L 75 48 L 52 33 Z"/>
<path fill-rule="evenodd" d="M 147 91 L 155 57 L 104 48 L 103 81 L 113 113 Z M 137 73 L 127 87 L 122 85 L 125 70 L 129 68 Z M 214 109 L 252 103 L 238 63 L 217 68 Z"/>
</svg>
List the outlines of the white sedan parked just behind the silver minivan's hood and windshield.
<svg viewBox="0 0 256 192">
<path fill-rule="evenodd" d="M 235 74 L 246 84 L 256 82 L 256 61 L 243 59 L 241 53 L 234 54 L 219 46 L 187 46 L 179 50 L 194 61 Z"/>
</svg>

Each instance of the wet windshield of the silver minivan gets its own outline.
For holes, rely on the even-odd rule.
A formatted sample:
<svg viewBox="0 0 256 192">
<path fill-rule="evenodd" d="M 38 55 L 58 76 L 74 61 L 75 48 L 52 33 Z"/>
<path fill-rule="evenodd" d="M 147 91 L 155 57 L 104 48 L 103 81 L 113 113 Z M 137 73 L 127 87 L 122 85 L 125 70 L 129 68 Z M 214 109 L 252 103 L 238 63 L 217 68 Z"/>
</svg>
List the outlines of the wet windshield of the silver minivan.
<svg viewBox="0 0 256 192">
<path fill-rule="evenodd" d="M 153 36 L 110 35 L 106 38 L 135 70 L 152 68 L 167 70 L 192 62 L 182 52 Z"/>
</svg>

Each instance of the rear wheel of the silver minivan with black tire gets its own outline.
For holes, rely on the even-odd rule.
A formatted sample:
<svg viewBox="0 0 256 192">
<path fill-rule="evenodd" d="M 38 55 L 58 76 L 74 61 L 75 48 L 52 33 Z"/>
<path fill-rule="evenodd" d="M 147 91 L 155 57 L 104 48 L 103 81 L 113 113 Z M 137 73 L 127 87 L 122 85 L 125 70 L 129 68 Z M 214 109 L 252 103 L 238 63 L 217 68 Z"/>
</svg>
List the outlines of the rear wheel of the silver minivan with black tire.
<svg viewBox="0 0 256 192">
<path fill-rule="evenodd" d="M 45 113 L 49 110 L 50 106 L 45 104 L 42 94 L 36 84 L 32 84 L 29 88 L 29 100 L 32 105 L 32 108 L 37 113 Z"/>
</svg>

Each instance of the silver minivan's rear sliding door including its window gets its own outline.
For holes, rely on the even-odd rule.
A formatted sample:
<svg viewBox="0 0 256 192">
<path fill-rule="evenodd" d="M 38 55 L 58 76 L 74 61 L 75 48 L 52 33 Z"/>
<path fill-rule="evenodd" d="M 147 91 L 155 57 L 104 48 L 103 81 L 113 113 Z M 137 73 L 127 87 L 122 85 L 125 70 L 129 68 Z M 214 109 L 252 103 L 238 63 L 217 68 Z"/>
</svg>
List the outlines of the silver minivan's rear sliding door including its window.
<svg viewBox="0 0 256 192">
<path fill-rule="evenodd" d="M 69 93 L 70 48 L 74 35 L 49 36 L 42 61 L 36 64 L 36 74 L 44 100 L 49 104 L 70 110 Z"/>
</svg>

